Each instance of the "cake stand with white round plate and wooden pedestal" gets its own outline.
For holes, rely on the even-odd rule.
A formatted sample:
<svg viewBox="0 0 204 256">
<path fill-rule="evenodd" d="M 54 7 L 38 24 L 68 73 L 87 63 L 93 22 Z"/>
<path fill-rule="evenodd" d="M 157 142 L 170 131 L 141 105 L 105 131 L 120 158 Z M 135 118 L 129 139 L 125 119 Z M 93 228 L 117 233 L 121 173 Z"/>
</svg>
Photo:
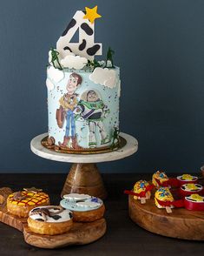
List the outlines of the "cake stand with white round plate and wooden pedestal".
<svg viewBox="0 0 204 256">
<path fill-rule="evenodd" d="M 54 152 L 45 148 L 41 141 L 47 137 L 48 133 L 43 133 L 36 136 L 30 142 L 30 149 L 37 156 L 41 158 L 47 158 L 49 160 L 73 163 L 70 168 L 68 177 L 65 181 L 62 191 L 62 197 L 64 194 L 70 192 L 88 193 L 91 196 L 95 196 L 101 199 L 105 199 L 107 192 L 104 188 L 102 177 L 98 172 L 95 163 L 115 161 L 137 152 L 138 142 L 137 140 L 126 134 L 120 133 L 120 137 L 126 140 L 126 145 L 113 152 L 95 153 L 95 154 L 68 154 L 62 152 Z"/>
</svg>

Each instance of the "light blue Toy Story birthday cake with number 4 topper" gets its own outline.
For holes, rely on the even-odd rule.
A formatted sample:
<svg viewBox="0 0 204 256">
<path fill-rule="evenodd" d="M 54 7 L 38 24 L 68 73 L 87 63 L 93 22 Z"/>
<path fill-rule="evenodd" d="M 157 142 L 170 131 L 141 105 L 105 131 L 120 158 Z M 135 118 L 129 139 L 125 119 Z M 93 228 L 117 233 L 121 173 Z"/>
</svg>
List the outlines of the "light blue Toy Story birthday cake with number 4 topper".
<svg viewBox="0 0 204 256">
<path fill-rule="evenodd" d="M 59 152 L 97 152 L 119 147 L 120 69 L 109 47 L 105 60 L 102 44 L 95 43 L 97 6 L 77 10 L 49 51 L 49 137 L 44 145 Z M 79 42 L 71 39 L 78 33 Z"/>
</svg>

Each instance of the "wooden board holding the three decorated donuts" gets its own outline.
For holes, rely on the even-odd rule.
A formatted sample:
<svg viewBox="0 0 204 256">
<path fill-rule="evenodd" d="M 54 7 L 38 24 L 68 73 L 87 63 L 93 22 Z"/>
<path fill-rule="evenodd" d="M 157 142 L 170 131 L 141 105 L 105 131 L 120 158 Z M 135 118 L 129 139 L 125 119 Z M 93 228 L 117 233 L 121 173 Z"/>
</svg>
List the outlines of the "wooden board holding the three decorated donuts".
<svg viewBox="0 0 204 256">
<path fill-rule="evenodd" d="M 0 204 L 0 221 L 23 232 L 24 240 L 31 246 L 54 249 L 64 246 L 86 245 L 102 238 L 106 232 L 106 220 L 98 219 L 93 222 L 75 222 L 69 232 L 49 236 L 30 231 L 27 219 L 18 218 L 7 212 L 6 199 L 11 193 L 10 188 L 0 188 L 3 202 Z"/>
</svg>

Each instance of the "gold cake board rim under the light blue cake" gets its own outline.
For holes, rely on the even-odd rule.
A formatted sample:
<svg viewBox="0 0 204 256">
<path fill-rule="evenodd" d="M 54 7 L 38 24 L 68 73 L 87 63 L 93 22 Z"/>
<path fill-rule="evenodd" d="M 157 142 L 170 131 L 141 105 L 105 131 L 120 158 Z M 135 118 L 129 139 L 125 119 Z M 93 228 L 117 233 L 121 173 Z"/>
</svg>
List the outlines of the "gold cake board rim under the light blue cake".
<svg viewBox="0 0 204 256">
<path fill-rule="evenodd" d="M 50 151 L 53 152 L 60 152 L 60 153 L 66 153 L 66 154 L 81 154 L 81 155 L 86 155 L 86 154 L 101 154 L 101 153 L 108 153 L 108 152 L 115 152 L 117 150 L 122 149 L 122 147 L 124 147 L 127 144 L 127 140 L 125 138 L 123 138 L 122 136 L 119 136 L 119 145 L 115 148 L 112 148 L 112 145 L 110 146 L 104 146 L 101 148 L 97 148 L 97 149 L 80 149 L 80 150 L 72 150 L 72 149 L 68 149 L 59 145 L 48 145 L 47 143 L 47 139 L 49 138 L 49 136 L 44 137 L 41 140 L 41 145 L 43 145 L 43 147 L 49 149 Z"/>
</svg>

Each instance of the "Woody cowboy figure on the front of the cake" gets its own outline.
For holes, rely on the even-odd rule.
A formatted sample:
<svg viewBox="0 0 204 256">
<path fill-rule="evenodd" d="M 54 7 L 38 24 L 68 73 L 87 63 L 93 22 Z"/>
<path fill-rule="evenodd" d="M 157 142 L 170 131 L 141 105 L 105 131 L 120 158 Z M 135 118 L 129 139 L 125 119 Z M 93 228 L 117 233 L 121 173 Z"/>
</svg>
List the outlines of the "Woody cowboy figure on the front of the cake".
<svg viewBox="0 0 204 256">
<path fill-rule="evenodd" d="M 75 114 L 76 105 L 78 104 L 76 89 L 82 84 L 82 77 L 77 73 L 71 73 L 66 86 L 67 93 L 60 98 L 60 107 L 56 110 L 56 122 L 60 128 L 63 128 L 66 119 L 65 135 L 63 142 L 59 142 L 62 147 L 69 147 L 71 140 L 72 148 L 80 149 L 76 138 Z"/>
</svg>

